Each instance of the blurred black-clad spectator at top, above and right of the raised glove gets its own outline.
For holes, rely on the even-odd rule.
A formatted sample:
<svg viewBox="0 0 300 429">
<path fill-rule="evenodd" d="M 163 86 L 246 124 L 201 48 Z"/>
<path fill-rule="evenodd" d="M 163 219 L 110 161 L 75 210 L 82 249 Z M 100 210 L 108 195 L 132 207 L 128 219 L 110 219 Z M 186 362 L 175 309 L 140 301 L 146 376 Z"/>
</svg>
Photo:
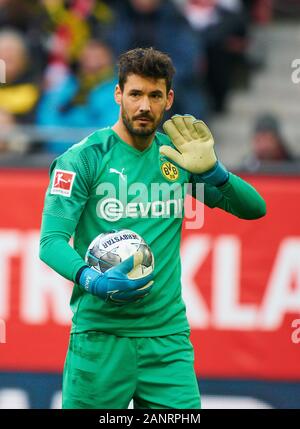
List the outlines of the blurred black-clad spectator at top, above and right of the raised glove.
<svg viewBox="0 0 300 429">
<path fill-rule="evenodd" d="M 246 15 L 240 0 L 187 0 L 183 10 L 204 44 L 211 108 L 222 113 L 234 83 L 233 75 L 236 74 L 241 82 L 247 79 L 244 75 L 247 73 L 244 57 L 247 46 Z"/>
</svg>

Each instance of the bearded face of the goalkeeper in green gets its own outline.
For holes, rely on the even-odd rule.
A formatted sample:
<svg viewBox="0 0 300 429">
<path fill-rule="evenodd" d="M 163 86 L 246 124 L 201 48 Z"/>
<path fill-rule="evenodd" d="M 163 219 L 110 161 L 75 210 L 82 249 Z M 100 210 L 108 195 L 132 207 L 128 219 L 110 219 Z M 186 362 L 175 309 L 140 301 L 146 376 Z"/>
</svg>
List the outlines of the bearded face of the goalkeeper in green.
<svg viewBox="0 0 300 429">
<path fill-rule="evenodd" d="M 131 135 L 148 137 L 153 134 L 166 110 L 172 106 L 174 93 L 167 94 L 165 79 L 152 79 L 131 74 L 123 92 L 117 85 L 116 102 L 121 106 L 123 124 Z"/>
</svg>

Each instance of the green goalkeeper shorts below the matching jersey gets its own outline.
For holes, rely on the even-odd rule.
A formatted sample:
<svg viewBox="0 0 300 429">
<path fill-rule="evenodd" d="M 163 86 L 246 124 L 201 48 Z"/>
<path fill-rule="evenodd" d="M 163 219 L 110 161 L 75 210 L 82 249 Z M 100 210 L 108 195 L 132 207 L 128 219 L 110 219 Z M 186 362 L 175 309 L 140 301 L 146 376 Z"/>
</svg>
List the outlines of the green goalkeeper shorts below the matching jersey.
<svg viewBox="0 0 300 429">
<path fill-rule="evenodd" d="M 164 337 L 72 334 L 63 376 L 63 408 L 199 409 L 189 333 Z"/>
</svg>

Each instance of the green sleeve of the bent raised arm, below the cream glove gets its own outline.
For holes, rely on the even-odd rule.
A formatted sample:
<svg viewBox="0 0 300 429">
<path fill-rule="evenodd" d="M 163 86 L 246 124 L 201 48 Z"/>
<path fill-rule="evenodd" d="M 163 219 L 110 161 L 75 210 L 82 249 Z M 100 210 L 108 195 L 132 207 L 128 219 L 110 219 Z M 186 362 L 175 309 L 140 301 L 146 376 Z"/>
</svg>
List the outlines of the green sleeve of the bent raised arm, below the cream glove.
<svg viewBox="0 0 300 429">
<path fill-rule="evenodd" d="M 195 196 L 196 179 L 191 176 L 192 195 Z M 222 186 L 204 184 L 204 204 L 218 207 L 241 219 L 258 219 L 266 214 L 266 203 L 248 182 L 229 173 L 228 181 Z"/>
</svg>

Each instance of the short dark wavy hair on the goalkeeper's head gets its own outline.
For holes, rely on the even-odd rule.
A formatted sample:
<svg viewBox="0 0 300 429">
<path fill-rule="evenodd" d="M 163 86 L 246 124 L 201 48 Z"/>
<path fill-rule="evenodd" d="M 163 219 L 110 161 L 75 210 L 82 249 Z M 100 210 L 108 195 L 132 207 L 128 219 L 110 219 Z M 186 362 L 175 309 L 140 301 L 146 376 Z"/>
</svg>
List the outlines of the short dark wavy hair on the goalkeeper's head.
<svg viewBox="0 0 300 429">
<path fill-rule="evenodd" d="M 127 77 L 137 74 L 154 79 L 165 79 L 167 92 L 172 87 L 175 74 L 171 58 L 154 48 L 136 48 L 127 51 L 119 58 L 119 86 L 123 91 Z"/>
</svg>

